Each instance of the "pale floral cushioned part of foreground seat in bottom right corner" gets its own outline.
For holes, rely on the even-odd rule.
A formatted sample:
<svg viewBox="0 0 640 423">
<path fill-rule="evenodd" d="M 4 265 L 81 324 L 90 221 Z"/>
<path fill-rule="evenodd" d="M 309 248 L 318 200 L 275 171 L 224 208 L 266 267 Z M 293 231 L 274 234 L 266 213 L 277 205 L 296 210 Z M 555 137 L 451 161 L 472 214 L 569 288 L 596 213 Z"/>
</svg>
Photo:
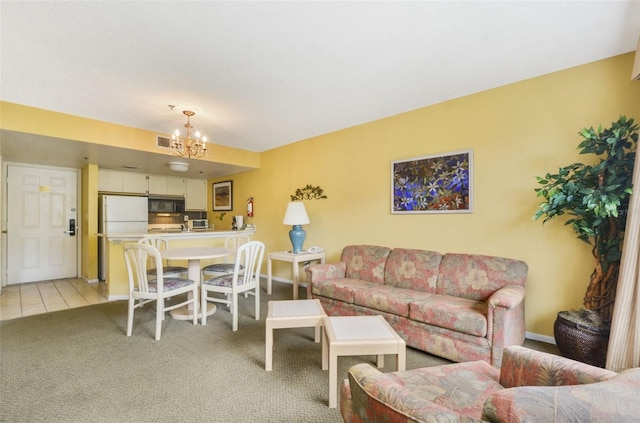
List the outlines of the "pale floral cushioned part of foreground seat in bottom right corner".
<svg viewBox="0 0 640 423">
<path fill-rule="evenodd" d="M 504 389 L 487 399 L 483 417 L 494 422 L 637 422 L 640 368 L 605 382 Z"/>
</svg>

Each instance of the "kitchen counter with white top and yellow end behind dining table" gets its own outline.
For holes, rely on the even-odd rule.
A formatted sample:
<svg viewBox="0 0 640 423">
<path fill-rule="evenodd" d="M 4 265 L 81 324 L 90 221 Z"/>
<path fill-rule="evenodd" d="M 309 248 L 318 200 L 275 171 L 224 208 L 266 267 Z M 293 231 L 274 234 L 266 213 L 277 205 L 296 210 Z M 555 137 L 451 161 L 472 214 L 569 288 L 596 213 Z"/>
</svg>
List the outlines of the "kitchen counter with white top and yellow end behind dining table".
<svg viewBox="0 0 640 423">
<path fill-rule="evenodd" d="M 171 247 L 200 247 L 200 246 L 224 246 L 224 240 L 234 235 L 244 235 L 253 237 L 254 229 L 241 231 L 225 230 L 196 230 L 184 232 L 161 232 L 152 231 L 146 233 L 116 233 L 101 234 L 99 237 L 107 238 L 106 255 L 106 284 L 107 298 L 109 300 L 124 300 L 129 298 L 129 277 L 127 267 L 124 262 L 124 245 L 130 242 L 138 242 L 139 239 L 148 235 L 162 236 L 170 241 Z M 179 261 L 172 262 L 180 263 Z M 212 261 L 212 263 L 215 261 Z M 207 262 L 203 261 L 203 267 Z M 187 265 L 186 261 L 182 264 Z"/>
</svg>

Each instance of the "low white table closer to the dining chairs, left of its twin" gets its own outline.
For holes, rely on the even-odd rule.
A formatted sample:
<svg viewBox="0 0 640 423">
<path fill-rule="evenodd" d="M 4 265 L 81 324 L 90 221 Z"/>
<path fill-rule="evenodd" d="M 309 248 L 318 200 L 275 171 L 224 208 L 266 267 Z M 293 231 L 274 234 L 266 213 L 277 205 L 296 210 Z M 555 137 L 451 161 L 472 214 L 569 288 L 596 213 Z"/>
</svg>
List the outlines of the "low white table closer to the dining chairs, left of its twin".
<svg viewBox="0 0 640 423">
<path fill-rule="evenodd" d="M 323 319 L 326 314 L 320 304 L 320 300 L 269 301 L 268 306 L 264 369 L 271 371 L 273 363 L 273 330 L 315 327 L 314 340 L 315 342 L 320 342 L 320 332 L 322 331 Z"/>
</svg>

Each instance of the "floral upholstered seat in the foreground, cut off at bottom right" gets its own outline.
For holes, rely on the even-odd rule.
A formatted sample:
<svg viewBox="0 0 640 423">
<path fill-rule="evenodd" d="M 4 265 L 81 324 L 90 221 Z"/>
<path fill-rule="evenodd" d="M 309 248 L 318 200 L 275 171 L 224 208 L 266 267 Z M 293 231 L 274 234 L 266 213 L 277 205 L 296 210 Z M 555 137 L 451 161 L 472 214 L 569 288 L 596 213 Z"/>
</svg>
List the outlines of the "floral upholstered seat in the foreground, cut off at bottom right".
<svg viewBox="0 0 640 423">
<path fill-rule="evenodd" d="M 640 368 L 614 373 L 527 348 L 485 361 L 380 373 L 349 369 L 345 422 L 638 422 Z"/>
</svg>

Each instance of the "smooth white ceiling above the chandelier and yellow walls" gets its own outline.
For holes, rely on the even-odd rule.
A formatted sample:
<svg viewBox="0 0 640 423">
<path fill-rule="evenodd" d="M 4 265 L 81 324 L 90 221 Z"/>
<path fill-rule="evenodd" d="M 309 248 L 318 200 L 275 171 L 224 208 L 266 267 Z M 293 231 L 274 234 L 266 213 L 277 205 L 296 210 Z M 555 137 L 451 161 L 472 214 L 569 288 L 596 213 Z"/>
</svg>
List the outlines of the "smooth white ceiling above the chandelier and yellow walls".
<svg viewBox="0 0 640 423">
<path fill-rule="evenodd" d="M 163 134 L 190 109 L 261 152 L 633 51 L 640 2 L 1 1 L 0 24 L 4 101 Z"/>
</svg>

